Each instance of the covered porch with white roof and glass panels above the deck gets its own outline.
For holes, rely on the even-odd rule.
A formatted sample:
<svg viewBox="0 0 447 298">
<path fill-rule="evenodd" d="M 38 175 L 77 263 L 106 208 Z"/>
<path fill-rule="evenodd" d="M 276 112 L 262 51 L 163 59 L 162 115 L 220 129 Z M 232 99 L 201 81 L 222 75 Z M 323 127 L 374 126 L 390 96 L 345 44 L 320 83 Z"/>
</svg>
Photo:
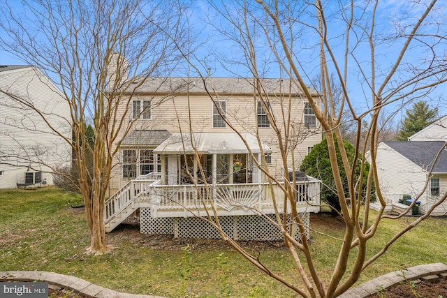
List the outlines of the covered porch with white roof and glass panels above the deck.
<svg viewBox="0 0 447 298">
<path fill-rule="evenodd" d="M 249 133 L 175 133 L 154 149 L 163 185 L 258 184 L 261 154 L 268 158 L 271 152 Z"/>
</svg>

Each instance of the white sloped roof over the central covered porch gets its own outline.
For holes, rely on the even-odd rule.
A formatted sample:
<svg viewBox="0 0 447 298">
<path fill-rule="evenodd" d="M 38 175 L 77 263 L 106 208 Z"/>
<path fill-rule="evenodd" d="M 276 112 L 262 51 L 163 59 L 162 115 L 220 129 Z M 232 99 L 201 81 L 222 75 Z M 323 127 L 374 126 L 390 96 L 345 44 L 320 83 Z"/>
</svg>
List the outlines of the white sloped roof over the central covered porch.
<svg viewBox="0 0 447 298">
<path fill-rule="evenodd" d="M 258 140 L 249 133 L 241 134 L 254 153 L 260 153 Z M 193 144 L 199 154 L 247 154 L 249 150 L 237 133 L 193 133 Z M 262 144 L 264 152 L 272 148 Z M 174 133 L 154 149 L 154 154 L 193 154 L 190 133 Z"/>
</svg>

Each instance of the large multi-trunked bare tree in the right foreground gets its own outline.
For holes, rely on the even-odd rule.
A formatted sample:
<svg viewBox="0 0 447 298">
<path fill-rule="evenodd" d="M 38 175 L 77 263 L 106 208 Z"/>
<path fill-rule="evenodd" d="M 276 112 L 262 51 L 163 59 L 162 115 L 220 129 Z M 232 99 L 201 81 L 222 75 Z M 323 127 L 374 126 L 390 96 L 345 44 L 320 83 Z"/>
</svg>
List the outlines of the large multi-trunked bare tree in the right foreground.
<svg viewBox="0 0 447 298">
<path fill-rule="evenodd" d="M 235 1 L 234 5 L 220 6 L 214 1 L 210 2 L 210 6 L 222 17 L 222 27 L 212 22 L 214 29 L 223 34 L 228 43 L 231 42 L 233 50 L 237 49 L 237 54 L 242 55 L 242 58 L 236 56 L 237 59 L 234 59 L 231 54 L 216 54 L 224 67 L 233 71 L 231 64 L 237 65 L 243 68 L 244 75 L 253 77 L 254 96 L 261 100 L 265 110 L 268 110 L 268 100 L 271 98 L 265 97 L 261 78 L 271 70 L 275 70 L 280 76 L 290 77 L 293 87 L 300 88 L 305 100 L 312 106 L 328 140 L 332 174 L 346 230 L 342 239 L 335 239 L 339 241 L 339 255 L 327 283 L 318 274 L 309 242 L 305 237 L 301 242 L 291 237 L 282 212 L 277 212 L 276 223 L 284 235 L 284 244 L 291 253 L 300 276 L 294 281 L 288 279 L 290 276 L 279 276 L 266 268 L 256 255 L 249 254 L 230 239 L 221 229 L 218 220 L 214 223 L 223 239 L 247 260 L 302 297 L 337 297 L 346 292 L 358 281 L 362 271 L 380 258 L 405 232 L 428 218 L 434 207 L 447 197 L 446 193 L 441 195 L 439 201 L 427 210 L 427 214 L 416 218 L 388 239 L 381 251 L 367 256 L 369 240 L 376 236 L 383 218 L 399 218 L 404 215 L 391 216 L 384 212 L 386 202 L 379 186 L 375 159 L 379 133 L 386 128 L 381 125 L 388 125 L 391 117 L 414 98 L 431 96 L 436 87 L 445 85 L 447 80 L 445 48 L 440 46 L 446 43 L 446 32 L 443 29 L 446 24 L 440 23 L 443 20 L 439 13 L 442 8 L 437 6 L 437 1 L 409 2 L 396 8 L 397 13 L 393 20 L 380 20 L 378 11 L 390 9 L 386 4 L 381 1 L 316 0 L 315 3 L 308 3 L 256 0 L 256 3 Z M 412 13 L 413 17 L 409 19 L 411 11 L 418 13 Z M 385 58 L 379 61 L 379 57 Z M 193 67 L 199 70 L 198 66 Z M 332 72 L 335 76 L 331 78 Z M 308 85 L 315 73 L 320 81 L 318 91 L 321 94 L 321 107 L 312 97 Z M 341 96 L 336 95 L 337 90 L 334 88 L 337 86 L 341 87 Z M 349 89 L 360 89 L 360 93 L 356 94 L 357 98 L 351 95 Z M 217 100 L 212 90 L 209 94 L 210 98 Z M 286 107 L 288 99 L 283 99 Z M 361 109 L 355 110 L 355 103 L 360 103 Z M 269 112 L 268 119 L 283 153 L 281 158 L 284 168 L 296 168 L 296 165 L 290 163 L 293 151 L 289 149 L 291 144 L 287 140 L 294 137 L 291 133 L 300 131 L 291 130 L 292 126 L 288 125 L 290 122 L 284 121 L 284 115 L 287 114 L 284 111 L 286 110 L 282 110 L 282 117 Z M 346 111 L 349 112 L 355 132 L 353 144 L 356 151 L 353 160 L 347 157 L 344 147 L 340 145 L 343 144 L 341 124 Z M 226 119 L 226 123 L 238 132 L 231 125 L 231 119 Z M 337 161 L 337 143 L 342 156 L 341 167 Z M 361 174 L 356 179 L 353 167 L 360 160 L 363 172 L 367 149 L 370 150 L 370 170 L 367 175 Z M 261 167 L 271 183 L 278 182 L 268 167 L 257 166 Z M 344 192 L 339 168 L 348 177 L 347 193 Z M 430 175 L 431 172 L 427 174 Z M 284 172 L 284 177 L 289 181 L 288 171 Z M 360 188 L 365 180 L 367 191 L 362 192 Z M 372 181 L 375 181 L 376 195 L 381 204 L 378 212 L 369 210 Z M 300 216 L 294 209 L 293 186 L 286 184 L 282 191 L 284 198 L 292 206 L 291 217 L 300 227 L 300 232 L 304 232 Z M 424 191 L 425 189 L 419 196 Z M 410 208 L 406 212 L 409 210 Z M 216 213 L 213 215 L 217 216 Z M 212 219 L 209 218 L 209 221 L 212 222 Z"/>
</svg>

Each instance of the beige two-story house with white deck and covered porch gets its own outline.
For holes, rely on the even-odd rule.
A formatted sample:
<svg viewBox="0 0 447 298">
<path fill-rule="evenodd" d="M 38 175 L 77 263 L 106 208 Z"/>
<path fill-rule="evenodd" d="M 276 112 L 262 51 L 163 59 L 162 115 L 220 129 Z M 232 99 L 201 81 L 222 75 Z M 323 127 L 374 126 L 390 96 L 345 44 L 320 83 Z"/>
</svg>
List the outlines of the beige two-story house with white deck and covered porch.
<svg viewBox="0 0 447 298">
<path fill-rule="evenodd" d="M 235 239 L 281 239 L 260 214 L 274 221 L 275 207 L 290 213 L 290 206 L 284 206 L 281 185 L 269 184 L 261 167 L 280 184 L 288 183 L 284 172 L 292 165 L 299 168 L 322 134 L 312 107 L 290 80 L 262 79 L 262 88 L 255 83 L 253 78 L 214 77 L 137 82 L 129 107 L 119 107 L 135 122 L 122 135 L 115 158 L 106 231 L 139 210 L 143 233 L 219 238 L 210 223 L 198 218 L 213 204 L 223 229 Z M 320 103 L 316 91 L 314 100 Z M 280 140 L 288 142 L 286 152 L 279 150 L 268 112 L 277 129 L 291 132 L 288 140 Z M 287 156 L 287 168 L 281 154 Z M 308 223 L 309 212 L 319 210 L 320 181 L 298 175 L 293 185 L 298 212 Z"/>
</svg>

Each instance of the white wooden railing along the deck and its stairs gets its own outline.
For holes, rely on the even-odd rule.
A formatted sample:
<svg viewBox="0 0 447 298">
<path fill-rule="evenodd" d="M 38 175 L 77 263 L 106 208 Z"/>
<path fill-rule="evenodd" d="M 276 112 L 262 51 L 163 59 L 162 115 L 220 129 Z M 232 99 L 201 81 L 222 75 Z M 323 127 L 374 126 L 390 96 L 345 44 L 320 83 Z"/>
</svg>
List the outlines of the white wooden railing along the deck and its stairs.
<svg viewBox="0 0 447 298">
<path fill-rule="evenodd" d="M 129 181 L 105 202 L 105 222 L 117 216 L 136 200 L 148 203 L 154 209 L 173 211 L 183 209 L 185 216 L 188 210 L 211 209 L 212 204 L 226 211 L 231 211 L 236 207 L 262 211 L 274 207 L 272 188 L 277 198 L 277 207 L 282 209 L 284 205 L 284 195 L 276 184 L 272 186 L 270 184 L 207 184 L 205 186 L 203 184 L 160 185 L 160 183 L 159 179 Z M 300 185 L 300 190 L 305 190 L 305 194 L 296 195 L 298 207 L 320 204 L 319 183 L 305 182 L 298 185 Z"/>
</svg>

